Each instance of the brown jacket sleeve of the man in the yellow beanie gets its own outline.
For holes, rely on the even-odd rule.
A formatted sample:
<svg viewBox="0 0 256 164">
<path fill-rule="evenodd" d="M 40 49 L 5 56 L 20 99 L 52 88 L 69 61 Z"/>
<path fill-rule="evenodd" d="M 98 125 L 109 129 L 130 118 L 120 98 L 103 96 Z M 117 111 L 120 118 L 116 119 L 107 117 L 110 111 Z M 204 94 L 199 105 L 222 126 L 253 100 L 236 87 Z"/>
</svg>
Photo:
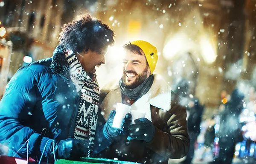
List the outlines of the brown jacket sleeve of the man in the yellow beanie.
<svg viewBox="0 0 256 164">
<path fill-rule="evenodd" d="M 189 152 L 190 139 L 186 123 L 186 108 L 172 103 L 171 109 L 166 112 L 166 128 L 162 130 L 155 127 L 155 136 L 147 146 L 157 154 L 178 159 Z"/>
</svg>

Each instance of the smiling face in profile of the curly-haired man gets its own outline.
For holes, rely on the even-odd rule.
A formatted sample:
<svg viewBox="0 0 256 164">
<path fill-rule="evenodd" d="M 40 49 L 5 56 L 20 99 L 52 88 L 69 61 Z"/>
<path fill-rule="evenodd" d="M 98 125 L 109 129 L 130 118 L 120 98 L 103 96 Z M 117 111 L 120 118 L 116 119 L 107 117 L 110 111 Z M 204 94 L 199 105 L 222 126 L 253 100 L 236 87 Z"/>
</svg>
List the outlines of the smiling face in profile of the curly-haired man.
<svg viewBox="0 0 256 164">
<path fill-rule="evenodd" d="M 105 64 L 105 54 L 107 52 L 108 47 L 99 52 L 91 50 L 88 50 L 87 52 L 79 52 L 76 53 L 76 57 L 80 61 L 85 72 L 94 73 L 96 72 L 96 66 L 99 67 L 101 64 Z"/>
</svg>

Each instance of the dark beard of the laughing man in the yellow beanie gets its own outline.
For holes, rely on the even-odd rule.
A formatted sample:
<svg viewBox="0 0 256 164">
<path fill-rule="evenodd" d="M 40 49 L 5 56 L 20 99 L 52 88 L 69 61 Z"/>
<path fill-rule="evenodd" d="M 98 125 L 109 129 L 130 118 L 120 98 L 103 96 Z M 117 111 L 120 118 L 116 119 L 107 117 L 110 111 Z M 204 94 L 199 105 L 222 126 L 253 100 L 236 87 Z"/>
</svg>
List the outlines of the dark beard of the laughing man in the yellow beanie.
<svg viewBox="0 0 256 164">
<path fill-rule="evenodd" d="M 122 81 L 123 81 L 123 84 L 125 86 L 125 88 L 127 89 L 134 89 L 135 87 L 139 86 L 141 83 L 143 83 L 143 81 L 145 81 L 147 79 L 147 70 L 148 70 L 148 67 L 146 67 L 144 70 L 143 70 L 143 73 L 138 75 L 135 71 L 123 71 L 123 76 L 122 76 Z M 137 78 L 135 79 L 135 81 L 133 83 L 131 83 L 130 85 L 128 85 L 125 81 L 125 78 L 126 78 L 126 73 L 134 73 L 135 75 L 137 75 Z"/>
</svg>

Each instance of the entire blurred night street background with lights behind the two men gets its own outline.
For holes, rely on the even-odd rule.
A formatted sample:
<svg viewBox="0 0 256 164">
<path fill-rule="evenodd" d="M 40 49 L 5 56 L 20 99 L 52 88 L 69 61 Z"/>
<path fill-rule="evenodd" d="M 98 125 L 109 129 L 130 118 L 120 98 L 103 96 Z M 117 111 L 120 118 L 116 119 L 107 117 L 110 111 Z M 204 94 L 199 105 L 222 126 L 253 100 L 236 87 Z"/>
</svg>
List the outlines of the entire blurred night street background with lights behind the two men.
<svg viewBox="0 0 256 164">
<path fill-rule="evenodd" d="M 256 0 L 0 0 L 0 96 L 17 69 L 52 56 L 64 23 L 90 13 L 116 32 L 116 45 L 96 72 L 101 88 L 121 77 L 122 45 L 147 40 L 160 55 L 155 73 L 188 109 L 195 99 L 204 108 L 194 162 L 218 156 L 221 112 L 236 88 L 245 95 L 238 118 L 244 140 L 236 144 L 234 162 L 250 162 L 256 158 L 255 9 Z M 214 141 L 204 150 L 209 127 Z"/>
</svg>

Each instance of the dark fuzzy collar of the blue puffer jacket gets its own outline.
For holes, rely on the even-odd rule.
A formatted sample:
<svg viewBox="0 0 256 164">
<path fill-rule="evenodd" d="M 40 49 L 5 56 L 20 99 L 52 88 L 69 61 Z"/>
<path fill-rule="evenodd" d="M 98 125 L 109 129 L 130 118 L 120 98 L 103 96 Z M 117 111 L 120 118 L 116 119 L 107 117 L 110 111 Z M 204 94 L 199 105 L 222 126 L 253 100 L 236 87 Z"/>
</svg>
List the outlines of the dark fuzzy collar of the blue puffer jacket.
<svg viewBox="0 0 256 164">
<path fill-rule="evenodd" d="M 59 74 L 64 78 L 70 76 L 70 66 L 67 62 L 67 59 L 64 55 L 64 47 L 58 45 L 52 55 L 52 62 L 50 64 L 50 69 L 53 73 Z"/>
</svg>

